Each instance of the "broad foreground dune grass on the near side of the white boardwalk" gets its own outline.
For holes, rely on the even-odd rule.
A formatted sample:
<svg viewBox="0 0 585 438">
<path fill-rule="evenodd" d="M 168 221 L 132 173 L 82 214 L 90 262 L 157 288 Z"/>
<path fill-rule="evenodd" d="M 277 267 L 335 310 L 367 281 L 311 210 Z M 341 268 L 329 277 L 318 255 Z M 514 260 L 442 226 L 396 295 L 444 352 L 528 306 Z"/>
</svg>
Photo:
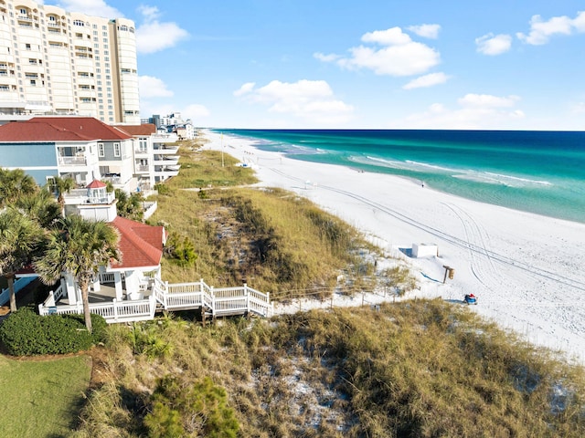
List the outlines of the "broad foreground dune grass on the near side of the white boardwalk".
<svg viewBox="0 0 585 438">
<path fill-rule="evenodd" d="M 136 349 L 137 333 L 166 347 Z M 148 433 L 151 394 L 169 375 L 186 389 L 206 379 L 223 388 L 239 436 L 585 433 L 582 368 L 440 299 L 205 328 L 167 317 L 110 334 L 112 376 L 91 395 L 76 436 Z M 192 417 L 179 418 L 188 427 Z"/>
</svg>

